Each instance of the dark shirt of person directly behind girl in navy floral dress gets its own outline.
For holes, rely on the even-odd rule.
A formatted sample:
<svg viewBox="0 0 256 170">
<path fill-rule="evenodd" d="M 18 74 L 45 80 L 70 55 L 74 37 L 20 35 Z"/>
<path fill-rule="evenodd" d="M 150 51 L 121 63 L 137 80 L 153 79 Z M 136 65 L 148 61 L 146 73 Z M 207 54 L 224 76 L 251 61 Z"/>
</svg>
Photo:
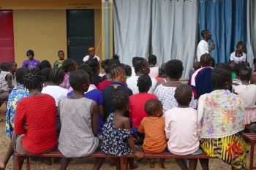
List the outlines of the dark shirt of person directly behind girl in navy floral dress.
<svg viewBox="0 0 256 170">
<path fill-rule="evenodd" d="M 115 112 L 115 109 L 111 104 L 111 97 L 113 93 L 116 93 L 118 91 L 124 91 L 128 93 L 129 96 L 132 96 L 132 90 L 124 86 L 118 86 L 117 88 L 114 88 L 113 85 L 109 85 L 108 87 L 102 90 L 103 107 L 104 107 L 104 117 L 103 117 L 104 123 L 107 121 L 108 116 L 111 113 Z"/>
</svg>

